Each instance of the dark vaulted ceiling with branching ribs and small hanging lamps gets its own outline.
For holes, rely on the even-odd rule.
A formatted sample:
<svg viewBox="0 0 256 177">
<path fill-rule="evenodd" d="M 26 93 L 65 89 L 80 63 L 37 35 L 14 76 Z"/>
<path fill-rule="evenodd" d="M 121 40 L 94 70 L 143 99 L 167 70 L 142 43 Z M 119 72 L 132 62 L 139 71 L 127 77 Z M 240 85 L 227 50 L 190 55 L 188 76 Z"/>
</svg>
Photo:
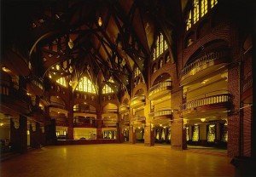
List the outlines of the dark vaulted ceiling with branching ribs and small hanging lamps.
<svg viewBox="0 0 256 177">
<path fill-rule="evenodd" d="M 176 60 L 175 30 L 187 2 L 3 1 L 3 51 L 18 51 L 39 77 L 66 77 L 73 89 L 82 76 L 98 87 L 112 77 L 114 84 L 129 88 L 135 66 L 147 81 L 149 57 L 160 31 Z"/>
</svg>

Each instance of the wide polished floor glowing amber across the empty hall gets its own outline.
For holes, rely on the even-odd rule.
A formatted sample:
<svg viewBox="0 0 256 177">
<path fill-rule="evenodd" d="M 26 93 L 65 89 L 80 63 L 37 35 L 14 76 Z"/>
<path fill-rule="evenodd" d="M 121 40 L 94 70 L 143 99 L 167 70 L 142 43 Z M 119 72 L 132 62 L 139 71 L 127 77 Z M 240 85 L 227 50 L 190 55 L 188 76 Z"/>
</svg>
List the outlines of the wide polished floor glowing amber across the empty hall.
<svg viewBox="0 0 256 177">
<path fill-rule="evenodd" d="M 234 176 L 231 158 L 169 146 L 45 146 L 0 163 L 2 177 Z"/>
</svg>

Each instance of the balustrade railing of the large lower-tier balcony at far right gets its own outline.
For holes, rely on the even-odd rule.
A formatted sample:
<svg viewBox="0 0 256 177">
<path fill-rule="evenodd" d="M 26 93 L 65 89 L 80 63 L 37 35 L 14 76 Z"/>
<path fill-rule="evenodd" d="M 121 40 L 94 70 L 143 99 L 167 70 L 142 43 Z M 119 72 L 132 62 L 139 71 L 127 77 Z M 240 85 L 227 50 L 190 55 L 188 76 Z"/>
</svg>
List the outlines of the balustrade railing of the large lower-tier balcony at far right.
<svg viewBox="0 0 256 177">
<path fill-rule="evenodd" d="M 207 96 L 205 98 L 192 100 L 187 103 L 184 103 L 181 106 L 181 110 L 188 110 L 188 109 L 199 107 L 199 106 L 207 106 L 212 104 L 230 102 L 230 100 L 231 100 L 230 94 L 216 94 L 216 95 Z"/>
</svg>

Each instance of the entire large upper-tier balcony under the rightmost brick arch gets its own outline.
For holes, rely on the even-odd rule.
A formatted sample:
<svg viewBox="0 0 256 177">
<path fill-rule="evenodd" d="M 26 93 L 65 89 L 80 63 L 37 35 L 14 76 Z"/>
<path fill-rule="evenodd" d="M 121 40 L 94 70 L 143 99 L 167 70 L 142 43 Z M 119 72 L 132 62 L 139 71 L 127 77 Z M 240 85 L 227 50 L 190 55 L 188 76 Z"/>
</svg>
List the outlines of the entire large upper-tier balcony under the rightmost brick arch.
<svg viewBox="0 0 256 177">
<path fill-rule="evenodd" d="M 207 76 L 207 74 L 223 68 L 228 63 L 229 54 L 230 52 L 224 49 L 214 51 L 212 53 L 205 54 L 188 66 L 184 66 L 179 76 L 180 85 L 185 85 L 195 81 L 198 77 Z"/>
</svg>

